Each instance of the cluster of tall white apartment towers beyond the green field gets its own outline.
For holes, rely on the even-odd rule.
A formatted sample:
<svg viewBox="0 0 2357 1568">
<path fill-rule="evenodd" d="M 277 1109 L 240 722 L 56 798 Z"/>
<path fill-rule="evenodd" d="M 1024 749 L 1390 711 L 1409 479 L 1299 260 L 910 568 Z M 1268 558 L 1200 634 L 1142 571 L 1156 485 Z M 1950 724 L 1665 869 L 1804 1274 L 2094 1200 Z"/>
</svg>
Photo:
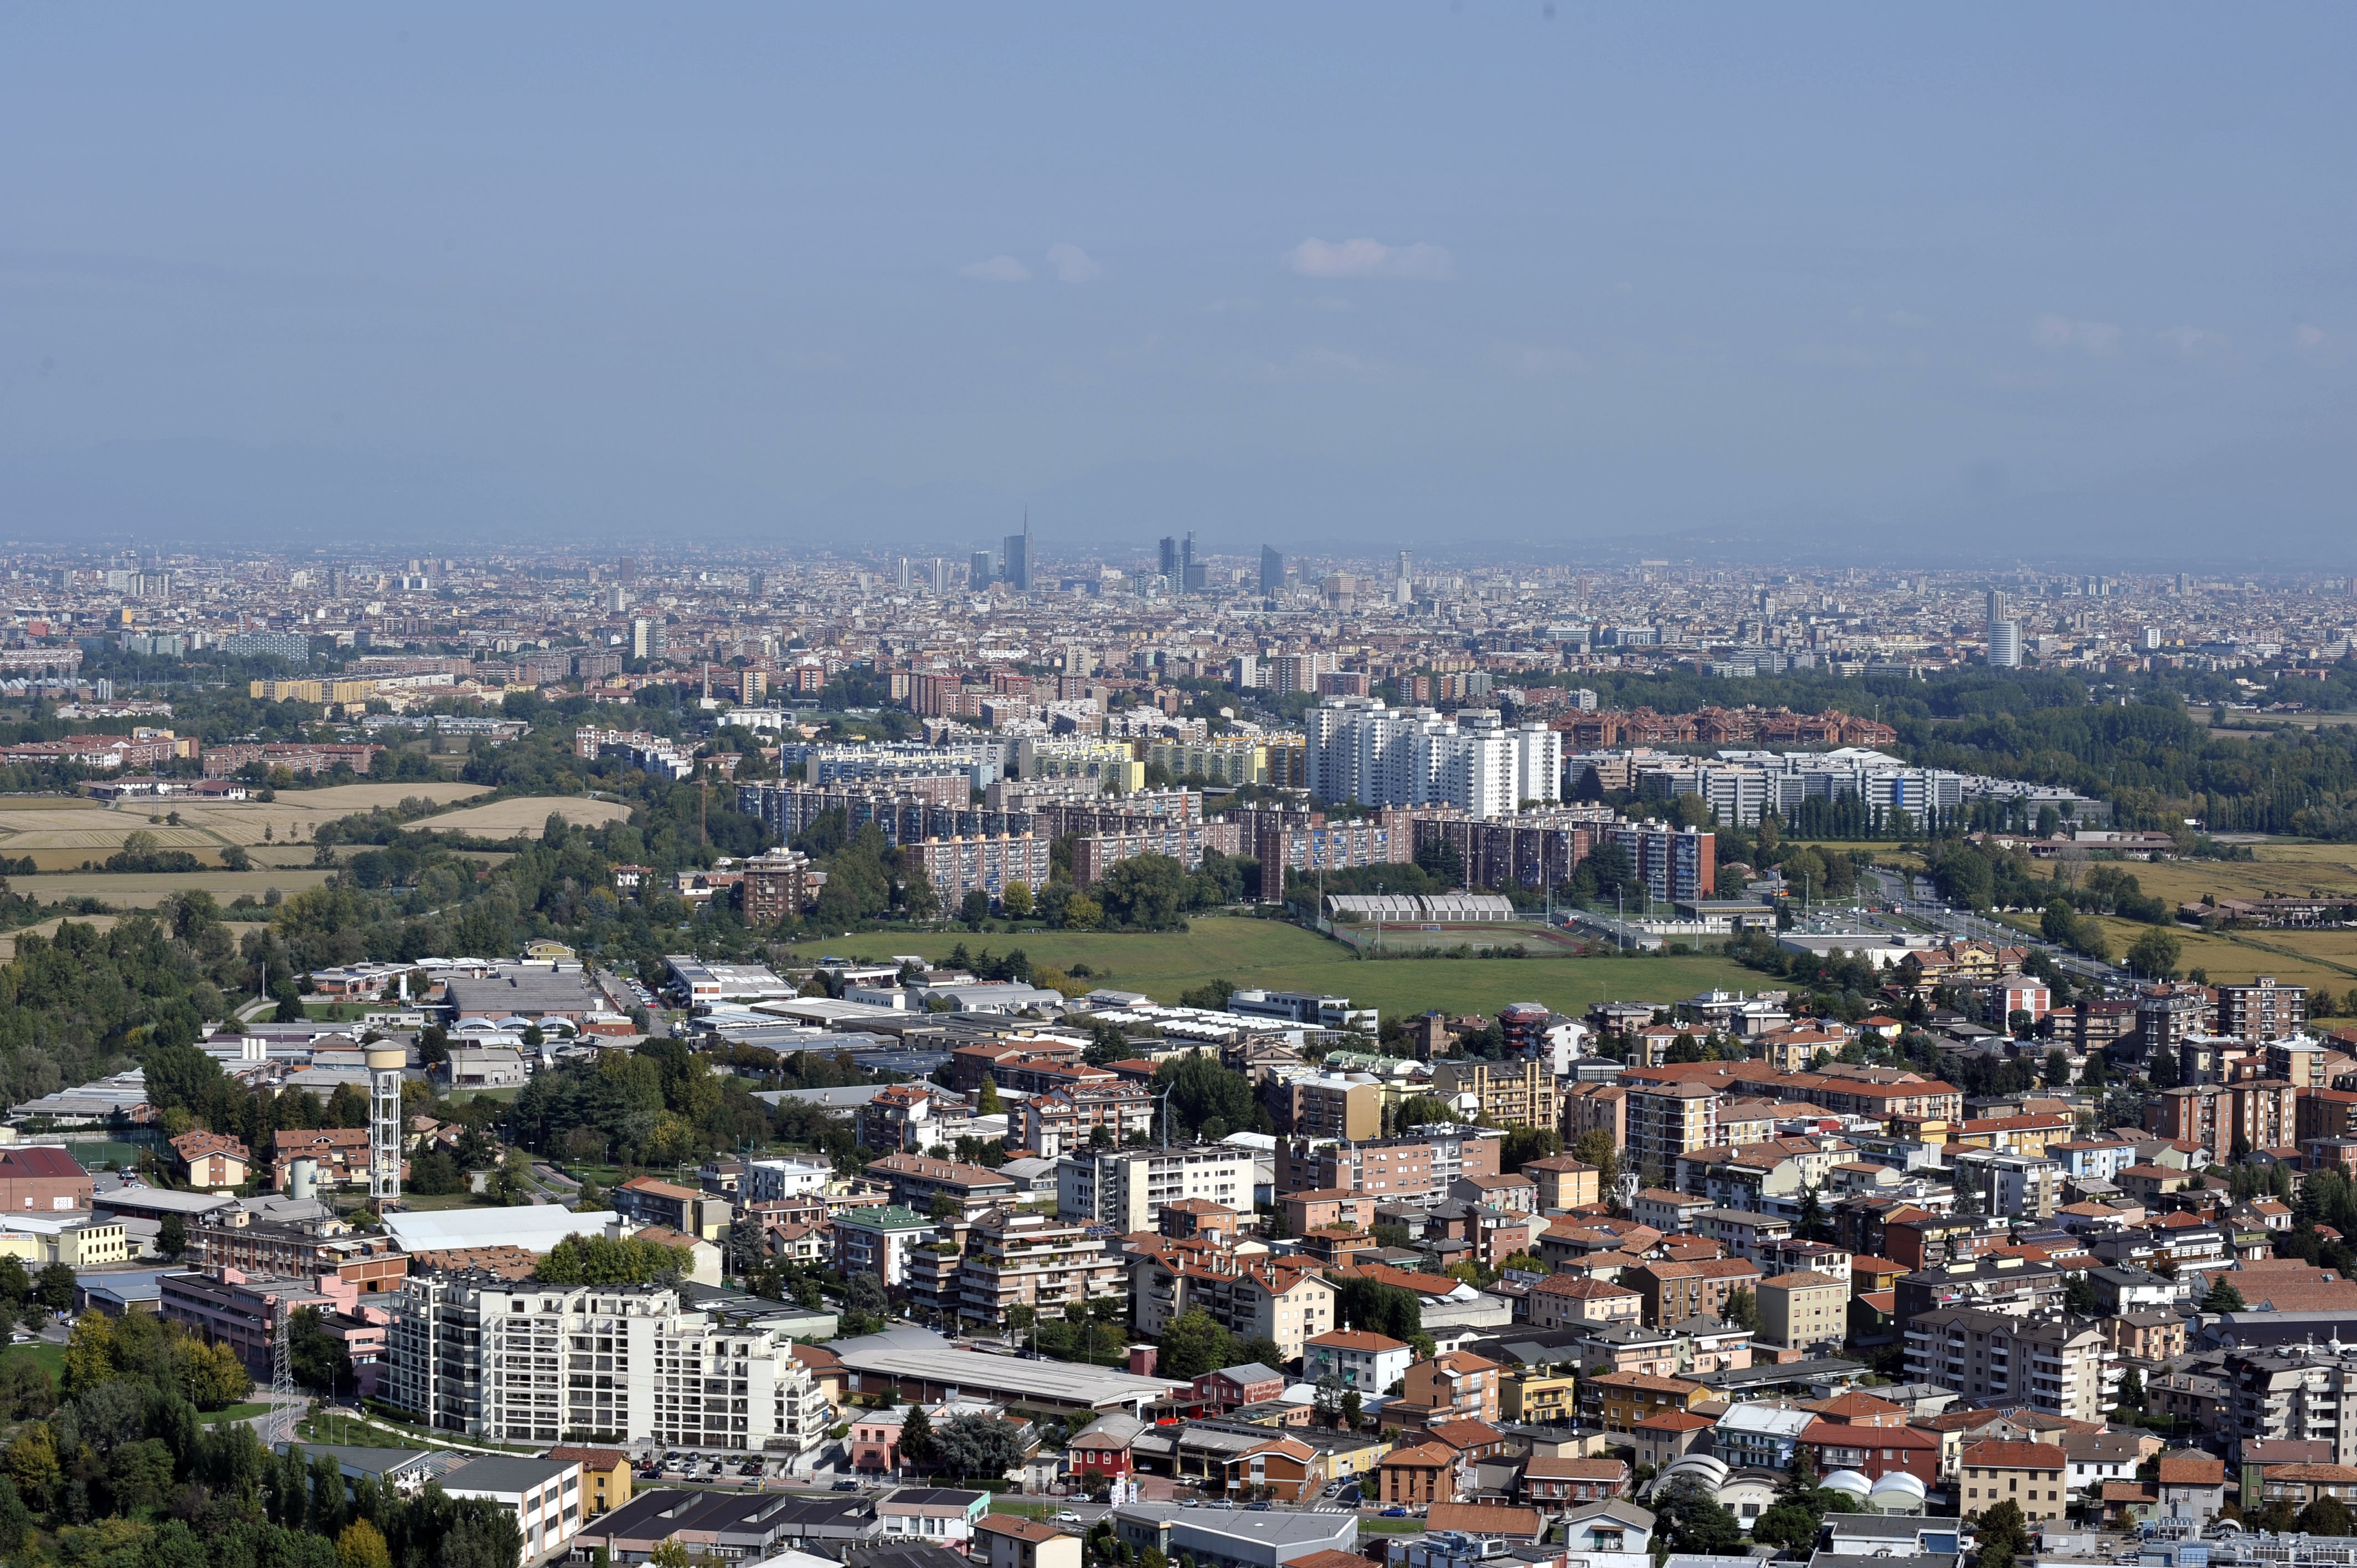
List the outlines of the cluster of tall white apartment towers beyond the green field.
<svg viewBox="0 0 2357 1568">
<path fill-rule="evenodd" d="M 1492 818 L 1563 797 L 1563 736 L 1544 724 L 1508 729 L 1487 707 L 1447 719 L 1428 707 L 1386 707 L 1381 698 L 1327 698 L 1303 714 L 1303 729 L 1318 799 L 1457 806 Z"/>
</svg>

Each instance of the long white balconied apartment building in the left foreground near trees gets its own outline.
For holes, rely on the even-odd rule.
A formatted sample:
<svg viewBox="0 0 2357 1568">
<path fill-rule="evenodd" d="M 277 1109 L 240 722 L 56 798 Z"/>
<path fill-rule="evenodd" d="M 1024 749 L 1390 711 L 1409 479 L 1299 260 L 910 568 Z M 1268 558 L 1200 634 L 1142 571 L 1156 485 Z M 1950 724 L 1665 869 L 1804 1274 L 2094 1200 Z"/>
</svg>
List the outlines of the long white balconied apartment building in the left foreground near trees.
<svg viewBox="0 0 2357 1568">
<path fill-rule="evenodd" d="M 389 1306 L 384 1396 L 436 1431 L 801 1452 L 834 1419 L 790 1332 L 684 1309 L 669 1285 L 422 1273 Z"/>
</svg>

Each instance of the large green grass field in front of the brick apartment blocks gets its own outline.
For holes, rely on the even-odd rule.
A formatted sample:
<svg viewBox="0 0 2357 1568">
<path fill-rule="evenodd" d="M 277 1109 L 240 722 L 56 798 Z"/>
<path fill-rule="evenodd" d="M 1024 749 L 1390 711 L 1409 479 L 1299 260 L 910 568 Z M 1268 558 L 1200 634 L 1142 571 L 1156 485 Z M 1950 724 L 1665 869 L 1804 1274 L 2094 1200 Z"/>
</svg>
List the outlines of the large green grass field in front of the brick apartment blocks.
<svg viewBox="0 0 2357 1568">
<path fill-rule="evenodd" d="M 1480 946 L 1478 938 L 1473 938 Z M 933 936 L 884 934 L 806 941 L 794 955 L 884 962 L 893 953 L 940 960 L 957 943 L 981 955 L 1023 948 L 1035 964 L 1089 964 L 1098 986 L 1143 990 L 1157 1002 L 1176 1002 L 1181 990 L 1211 979 L 1273 990 L 1322 990 L 1346 995 L 1386 1016 L 1431 1009 L 1497 1012 L 1506 1002 L 1544 1002 L 1582 1014 L 1596 1002 L 1671 1002 L 1714 986 L 1754 988 L 1761 976 L 1718 957 L 1407 957 L 1360 960 L 1341 943 L 1275 920 L 1202 917 L 1190 931 L 943 931 Z"/>
</svg>

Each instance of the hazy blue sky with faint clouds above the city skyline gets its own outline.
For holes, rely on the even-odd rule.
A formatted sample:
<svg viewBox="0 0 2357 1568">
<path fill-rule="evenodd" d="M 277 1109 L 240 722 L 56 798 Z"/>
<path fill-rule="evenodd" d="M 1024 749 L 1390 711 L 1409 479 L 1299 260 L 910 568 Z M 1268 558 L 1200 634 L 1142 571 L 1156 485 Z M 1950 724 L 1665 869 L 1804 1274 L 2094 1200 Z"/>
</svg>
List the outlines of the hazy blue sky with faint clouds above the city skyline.
<svg viewBox="0 0 2357 1568">
<path fill-rule="evenodd" d="M 0 2 L 0 535 L 2350 571 L 2352 45 Z"/>
</svg>

